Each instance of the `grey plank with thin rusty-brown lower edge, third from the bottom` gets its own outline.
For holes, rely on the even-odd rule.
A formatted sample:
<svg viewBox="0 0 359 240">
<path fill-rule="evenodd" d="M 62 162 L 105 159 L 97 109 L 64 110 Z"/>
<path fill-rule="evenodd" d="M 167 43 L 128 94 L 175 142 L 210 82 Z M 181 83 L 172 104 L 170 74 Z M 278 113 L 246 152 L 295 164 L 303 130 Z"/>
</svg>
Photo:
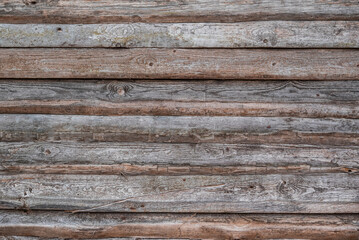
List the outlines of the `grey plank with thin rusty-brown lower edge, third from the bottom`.
<svg viewBox="0 0 359 240">
<path fill-rule="evenodd" d="M 0 174 L 354 174 L 358 156 L 357 146 L 0 143 Z"/>
</svg>

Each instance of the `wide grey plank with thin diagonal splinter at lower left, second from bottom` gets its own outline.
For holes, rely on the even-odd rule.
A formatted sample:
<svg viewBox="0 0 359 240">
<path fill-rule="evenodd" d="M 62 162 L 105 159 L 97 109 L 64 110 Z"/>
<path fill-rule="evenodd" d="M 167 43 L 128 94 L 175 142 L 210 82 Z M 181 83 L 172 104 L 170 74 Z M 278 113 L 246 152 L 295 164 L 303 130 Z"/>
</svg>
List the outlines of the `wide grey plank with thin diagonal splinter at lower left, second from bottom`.
<svg viewBox="0 0 359 240">
<path fill-rule="evenodd" d="M 359 176 L 0 175 L 0 209 L 359 213 Z"/>
</svg>

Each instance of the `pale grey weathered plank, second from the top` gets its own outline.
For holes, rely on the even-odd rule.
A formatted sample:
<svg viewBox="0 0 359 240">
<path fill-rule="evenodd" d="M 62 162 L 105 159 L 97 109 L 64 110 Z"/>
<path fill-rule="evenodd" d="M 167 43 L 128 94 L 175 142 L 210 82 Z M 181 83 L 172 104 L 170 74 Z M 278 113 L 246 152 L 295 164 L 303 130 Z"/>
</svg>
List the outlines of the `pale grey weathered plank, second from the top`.
<svg viewBox="0 0 359 240">
<path fill-rule="evenodd" d="M 0 47 L 358 48 L 357 21 L 0 24 Z"/>
</svg>

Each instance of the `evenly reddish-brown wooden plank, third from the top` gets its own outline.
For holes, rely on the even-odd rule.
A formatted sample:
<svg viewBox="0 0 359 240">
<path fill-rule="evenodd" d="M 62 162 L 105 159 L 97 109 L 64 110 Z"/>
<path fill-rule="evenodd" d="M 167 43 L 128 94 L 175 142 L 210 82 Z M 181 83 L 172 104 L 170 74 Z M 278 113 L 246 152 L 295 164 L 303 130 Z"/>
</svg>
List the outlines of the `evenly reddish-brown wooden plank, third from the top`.
<svg viewBox="0 0 359 240">
<path fill-rule="evenodd" d="M 0 49 L 0 78 L 358 80 L 359 51 Z"/>
</svg>

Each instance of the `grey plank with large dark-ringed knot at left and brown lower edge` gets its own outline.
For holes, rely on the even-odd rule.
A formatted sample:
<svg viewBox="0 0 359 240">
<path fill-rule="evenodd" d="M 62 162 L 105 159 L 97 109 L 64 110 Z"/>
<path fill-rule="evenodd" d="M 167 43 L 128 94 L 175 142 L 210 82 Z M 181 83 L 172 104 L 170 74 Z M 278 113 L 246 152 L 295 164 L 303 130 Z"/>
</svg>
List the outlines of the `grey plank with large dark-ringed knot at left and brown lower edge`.
<svg viewBox="0 0 359 240">
<path fill-rule="evenodd" d="M 359 81 L 0 80 L 0 113 L 359 118 Z"/>
</svg>

